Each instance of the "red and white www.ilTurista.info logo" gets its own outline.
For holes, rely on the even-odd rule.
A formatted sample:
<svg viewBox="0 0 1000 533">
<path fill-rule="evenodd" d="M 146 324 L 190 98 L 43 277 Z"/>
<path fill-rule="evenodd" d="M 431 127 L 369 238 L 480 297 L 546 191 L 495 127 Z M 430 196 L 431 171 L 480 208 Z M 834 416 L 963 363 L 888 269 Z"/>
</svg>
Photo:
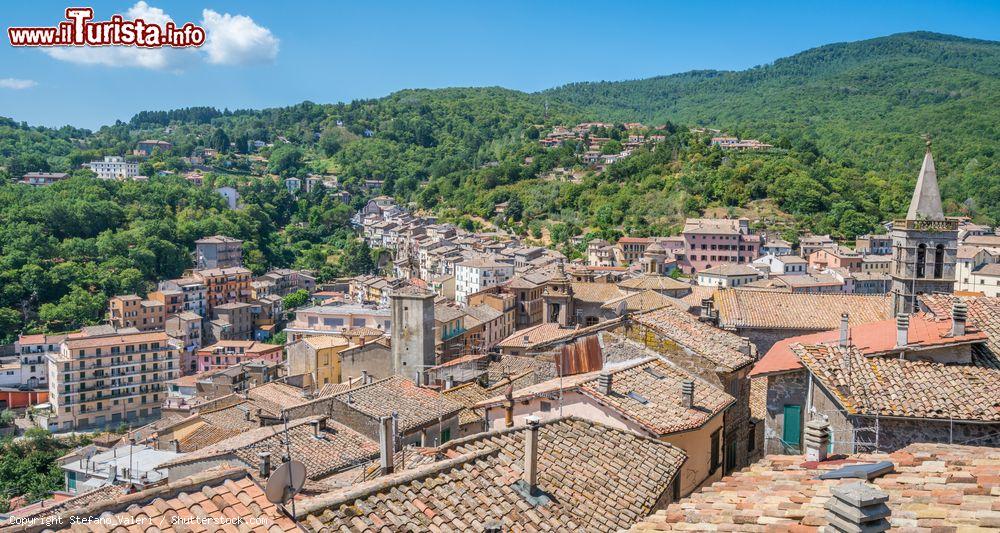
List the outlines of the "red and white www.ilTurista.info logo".
<svg viewBox="0 0 1000 533">
<path fill-rule="evenodd" d="M 205 43 L 205 30 L 190 22 L 177 26 L 125 20 L 114 15 L 104 22 L 92 22 L 89 7 L 66 8 L 66 20 L 58 26 L 12 27 L 7 36 L 12 46 L 139 46 L 142 48 L 186 48 Z"/>
</svg>

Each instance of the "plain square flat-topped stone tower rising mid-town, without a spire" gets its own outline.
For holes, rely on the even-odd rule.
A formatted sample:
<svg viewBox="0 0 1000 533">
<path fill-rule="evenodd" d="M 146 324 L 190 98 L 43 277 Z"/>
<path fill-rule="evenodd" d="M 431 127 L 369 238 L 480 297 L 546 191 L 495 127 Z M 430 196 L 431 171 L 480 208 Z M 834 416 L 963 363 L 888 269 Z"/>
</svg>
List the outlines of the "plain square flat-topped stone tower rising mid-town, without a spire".
<svg viewBox="0 0 1000 533">
<path fill-rule="evenodd" d="M 392 301 L 392 366 L 400 376 L 424 384 L 424 371 L 437 364 L 434 353 L 434 293 L 406 286 Z"/>
</svg>

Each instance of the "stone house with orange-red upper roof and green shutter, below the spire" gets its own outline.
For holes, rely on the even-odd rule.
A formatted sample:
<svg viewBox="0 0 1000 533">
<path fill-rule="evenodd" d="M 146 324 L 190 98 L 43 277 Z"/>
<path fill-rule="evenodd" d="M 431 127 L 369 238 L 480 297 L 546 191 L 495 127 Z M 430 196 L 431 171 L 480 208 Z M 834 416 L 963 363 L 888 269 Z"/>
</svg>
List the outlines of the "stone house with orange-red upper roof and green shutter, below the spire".
<svg viewBox="0 0 1000 533">
<path fill-rule="evenodd" d="M 830 426 L 832 453 L 1000 444 L 1000 303 L 924 302 L 931 313 L 853 326 L 845 315 L 839 330 L 775 344 L 751 373 L 767 382 L 768 453 L 798 453 L 817 418 Z"/>
</svg>

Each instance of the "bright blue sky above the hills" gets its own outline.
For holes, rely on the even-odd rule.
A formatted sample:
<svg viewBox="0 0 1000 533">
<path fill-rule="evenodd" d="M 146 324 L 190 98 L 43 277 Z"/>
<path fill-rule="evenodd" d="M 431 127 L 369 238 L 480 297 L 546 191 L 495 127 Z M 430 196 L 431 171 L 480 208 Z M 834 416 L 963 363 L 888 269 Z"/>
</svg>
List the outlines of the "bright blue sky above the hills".
<svg viewBox="0 0 1000 533">
<path fill-rule="evenodd" d="M 147 109 L 325 103 L 414 87 L 536 91 L 743 69 L 822 44 L 913 30 L 1000 40 L 996 0 L 146 1 L 5 2 L 0 116 L 96 128 Z M 211 51 L 141 57 L 45 53 L 6 42 L 7 27 L 55 25 L 67 5 L 81 4 L 97 20 L 130 9 L 160 9 L 181 24 L 207 20 L 218 40 Z"/>
</svg>

